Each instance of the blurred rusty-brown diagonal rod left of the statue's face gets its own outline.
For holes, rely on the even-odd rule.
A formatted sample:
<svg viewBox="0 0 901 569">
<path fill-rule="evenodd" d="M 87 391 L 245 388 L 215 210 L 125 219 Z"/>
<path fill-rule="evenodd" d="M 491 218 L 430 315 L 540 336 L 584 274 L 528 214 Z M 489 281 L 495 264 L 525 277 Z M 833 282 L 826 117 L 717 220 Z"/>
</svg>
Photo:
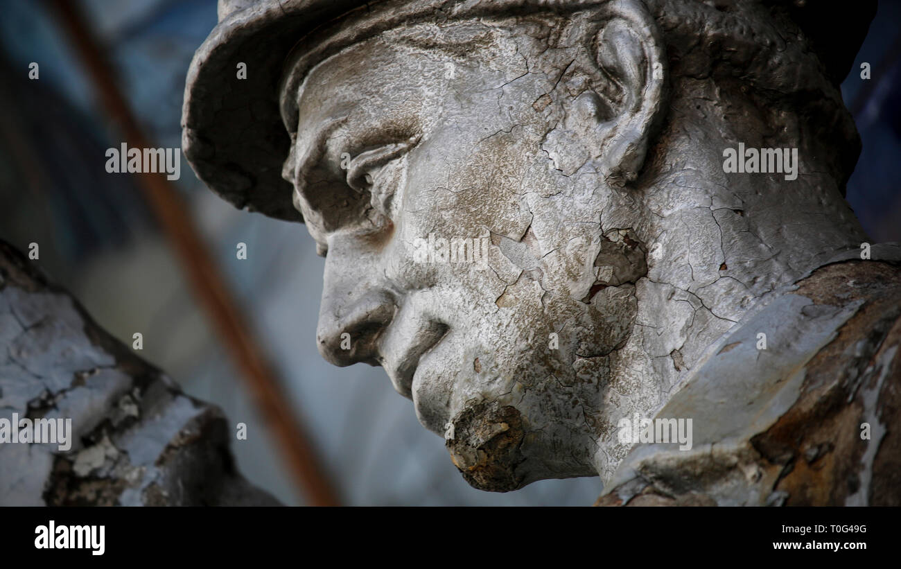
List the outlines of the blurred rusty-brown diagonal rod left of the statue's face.
<svg viewBox="0 0 901 569">
<path fill-rule="evenodd" d="M 115 82 L 113 68 L 106 61 L 94 34 L 72 0 L 50 0 L 59 23 L 86 68 L 106 112 L 131 148 L 150 148 L 141 125 L 125 102 Z M 238 303 L 225 285 L 223 276 L 210 261 L 210 254 L 188 215 L 187 204 L 168 182 L 165 174 L 138 174 L 138 183 L 150 209 L 175 250 L 182 270 L 207 317 L 241 370 L 263 420 L 278 441 L 296 483 L 308 503 L 337 505 L 332 484 L 320 465 L 300 420 L 287 404 L 287 397 L 273 368 L 262 356 L 256 339 L 248 332 L 247 321 L 236 308 Z"/>
</svg>

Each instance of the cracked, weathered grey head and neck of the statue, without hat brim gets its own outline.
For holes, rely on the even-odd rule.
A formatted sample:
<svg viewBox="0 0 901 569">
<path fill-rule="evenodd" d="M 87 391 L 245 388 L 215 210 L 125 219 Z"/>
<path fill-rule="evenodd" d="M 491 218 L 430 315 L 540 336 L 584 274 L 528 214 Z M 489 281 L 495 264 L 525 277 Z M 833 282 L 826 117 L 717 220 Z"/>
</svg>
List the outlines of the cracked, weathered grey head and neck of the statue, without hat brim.
<svg viewBox="0 0 901 569">
<path fill-rule="evenodd" d="M 842 199 L 859 141 L 778 11 L 514 4 L 388 2 L 298 44 L 280 203 L 234 191 L 191 126 L 186 152 L 233 203 L 286 218 L 291 196 L 326 256 L 323 357 L 385 367 L 470 483 L 608 483 L 619 419 L 691 393 L 717 342 L 866 239 Z M 797 180 L 726 175 L 739 141 L 798 148 Z M 432 234 L 488 239 L 487 266 L 415 262 Z"/>
</svg>

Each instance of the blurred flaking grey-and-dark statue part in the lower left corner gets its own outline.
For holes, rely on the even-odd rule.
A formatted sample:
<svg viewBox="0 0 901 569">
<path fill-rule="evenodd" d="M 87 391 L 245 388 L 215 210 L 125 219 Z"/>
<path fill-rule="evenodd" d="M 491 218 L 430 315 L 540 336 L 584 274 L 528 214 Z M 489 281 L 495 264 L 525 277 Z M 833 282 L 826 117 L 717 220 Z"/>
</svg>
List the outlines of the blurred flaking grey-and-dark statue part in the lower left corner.
<svg viewBox="0 0 901 569">
<path fill-rule="evenodd" d="M 0 240 L 0 506 L 279 505 L 223 412 L 101 329 Z"/>
</svg>

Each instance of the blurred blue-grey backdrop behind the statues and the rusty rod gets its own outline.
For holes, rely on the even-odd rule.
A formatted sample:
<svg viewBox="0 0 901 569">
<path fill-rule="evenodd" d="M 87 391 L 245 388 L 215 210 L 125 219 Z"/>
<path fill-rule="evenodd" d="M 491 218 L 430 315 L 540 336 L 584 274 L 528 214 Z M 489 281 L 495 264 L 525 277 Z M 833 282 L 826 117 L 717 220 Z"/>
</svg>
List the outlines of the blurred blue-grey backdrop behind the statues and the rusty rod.
<svg viewBox="0 0 901 569">
<path fill-rule="evenodd" d="M 65 0 L 63 0 L 65 1 Z M 152 147 L 181 146 L 182 96 L 194 50 L 216 23 L 215 0 L 71 0 Z M 219 405 L 247 440 L 241 472 L 286 504 L 310 503 L 260 417 L 198 293 L 135 176 L 108 175 L 105 150 L 125 140 L 46 1 L 0 0 L 0 239 L 27 251 L 125 344 L 184 390 Z M 839 17 L 839 16 L 836 16 Z M 874 242 L 901 240 L 901 3 L 881 0 L 851 74 L 845 103 L 863 140 L 848 201 Z M 871 78 L 860 78 L 869 62 Z M 32 62 L 39 78 L 29 78 Z M 121 118 L 121 117 L 120 117 Z M 131 146 L 131 145 L 130 145 Z M 287 408 L 305 428 L 323 477 L 346 505 L 588 505 L 597 479 L 533 483 L 498 494 L 469 487 L 441 438 L 423 429 L 387 375 L 326 364 L 315 347 L 324 259 L 303 225 L 239 212 L 182 158 L 176 197 L 232 301 L 271 362 Z M 246 259 L 235 255 L 246 243 Z"/>
</svg>

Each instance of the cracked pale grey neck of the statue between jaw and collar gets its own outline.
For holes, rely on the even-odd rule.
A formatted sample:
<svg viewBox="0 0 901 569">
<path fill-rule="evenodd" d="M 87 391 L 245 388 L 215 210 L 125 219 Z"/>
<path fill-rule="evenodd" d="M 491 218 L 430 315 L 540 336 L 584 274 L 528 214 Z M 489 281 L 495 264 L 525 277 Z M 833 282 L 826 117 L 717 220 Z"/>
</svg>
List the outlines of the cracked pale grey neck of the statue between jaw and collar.
<svg viewBox="0 0 901 569">
<path fill-rule="evenodd" d="M 668 154 L 655 161 L 660 171 L 643 191 L 652 220 L 643 231 L 649 268 L 636 286 L 633 334 L 611 363 L 605 409 L 614 426 L 635 413 L 651 418 L 761 297 L 867 240 L 835 181 L 803 145 L 796 179 L 727 173 L 724 149 L 737 151 L 738 144 L 727 137 L 712 142 L 711 133 L 721 131 L 700 117 L 680 126 L 678 135 L 665 137 Z M 707 141 L 705 149 L 697 140 Z M 616 435 L 607 429 L 597 438 L 602 479 L 627 450 Z"/>
</svg>

